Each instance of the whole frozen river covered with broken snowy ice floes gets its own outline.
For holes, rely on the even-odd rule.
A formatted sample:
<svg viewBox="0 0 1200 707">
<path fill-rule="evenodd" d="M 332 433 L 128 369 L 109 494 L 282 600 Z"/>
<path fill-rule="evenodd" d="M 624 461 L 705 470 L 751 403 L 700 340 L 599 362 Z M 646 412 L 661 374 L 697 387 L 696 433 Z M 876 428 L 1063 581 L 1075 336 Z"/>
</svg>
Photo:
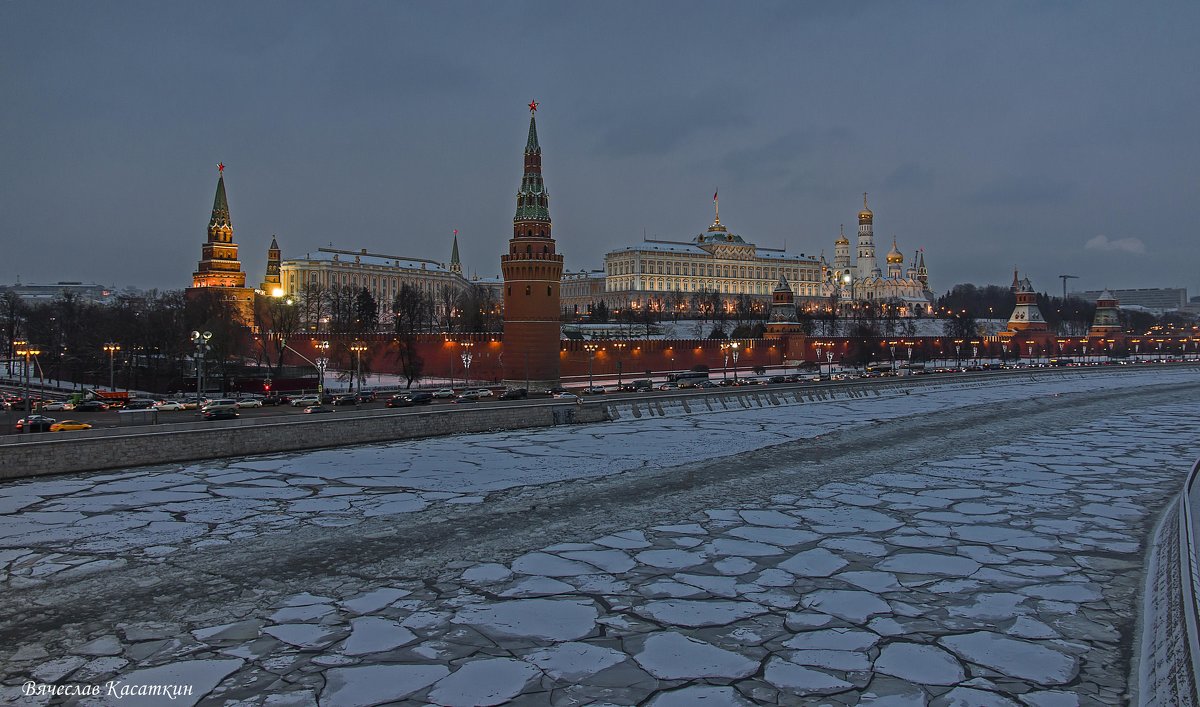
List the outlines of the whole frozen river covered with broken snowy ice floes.
<svg viewBox="0 0 1200 707">
<path fill-rule="evenodd" d="M 0 689 L 1123 702 L 1198 390 L 1004 381 L 8 484 Z"/>
</svg>

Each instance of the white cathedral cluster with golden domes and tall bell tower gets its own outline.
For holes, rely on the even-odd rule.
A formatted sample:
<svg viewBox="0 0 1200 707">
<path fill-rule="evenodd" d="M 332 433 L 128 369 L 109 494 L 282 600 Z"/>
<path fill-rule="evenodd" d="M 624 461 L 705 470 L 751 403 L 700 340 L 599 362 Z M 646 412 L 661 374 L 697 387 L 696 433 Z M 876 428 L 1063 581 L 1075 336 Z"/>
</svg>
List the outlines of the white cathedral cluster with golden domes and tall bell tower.
<svg viewBox="0 0 1200 707">
<path fill-rule="evenodd" d="M 893 238 L 892 250 L 886 259 L 887 271 L 880 268 L 875 258 L 875 214 L 868 208 L 864 193 L 863 210 L 858 212 L 858 244 L 853 260 L 845 230 L 834 241 L 833 265 L 829 265 L 824 256 L 821 257 L 824 296 L 852 301 L 899 301 L 910 313 L 931 311 L 934 293 L 929 289 L 924 250 L 913 253 L 912 260 L 905 266 L 904 253 Z"/>
</svg>

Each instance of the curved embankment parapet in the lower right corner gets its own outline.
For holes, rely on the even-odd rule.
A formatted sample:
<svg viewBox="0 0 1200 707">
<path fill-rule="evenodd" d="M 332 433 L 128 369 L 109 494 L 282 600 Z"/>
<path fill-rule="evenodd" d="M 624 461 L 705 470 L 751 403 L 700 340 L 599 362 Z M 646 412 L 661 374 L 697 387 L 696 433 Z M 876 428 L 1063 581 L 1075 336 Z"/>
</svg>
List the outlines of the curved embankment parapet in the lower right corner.
<svg viewBox="0 0 1200 707">
<path fill-rule="evenodd" d="M 1200 705 L 1200 461 L 1154 531 L 1146 569 L 1138 703 Z"/>
</svg>

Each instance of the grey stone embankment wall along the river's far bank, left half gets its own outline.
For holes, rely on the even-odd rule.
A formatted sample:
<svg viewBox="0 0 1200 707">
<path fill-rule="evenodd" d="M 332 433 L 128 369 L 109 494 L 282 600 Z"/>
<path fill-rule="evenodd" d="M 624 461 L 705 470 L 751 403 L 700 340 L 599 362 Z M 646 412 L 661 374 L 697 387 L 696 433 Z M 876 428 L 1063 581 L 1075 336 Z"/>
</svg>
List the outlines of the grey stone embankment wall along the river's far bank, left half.
<svg viewBox="0 0 1200 707">
<path fill-rule="evenodd" d="M 371 415 L 322 415 L 278 423 L 206 423 L 202 429 L 178 425 L 97 430 L 0 445 L 0 480 L 68 472 L 130 468 L 167 462 L 294 451 L 373 442 L 395 442 L 442 435 L 494 432 L 580 423 L 605 418 L 599 406 L 575 403 L 521 405 Z M 194 426 L 193 426 L 194 427 Z"/>
</svg>

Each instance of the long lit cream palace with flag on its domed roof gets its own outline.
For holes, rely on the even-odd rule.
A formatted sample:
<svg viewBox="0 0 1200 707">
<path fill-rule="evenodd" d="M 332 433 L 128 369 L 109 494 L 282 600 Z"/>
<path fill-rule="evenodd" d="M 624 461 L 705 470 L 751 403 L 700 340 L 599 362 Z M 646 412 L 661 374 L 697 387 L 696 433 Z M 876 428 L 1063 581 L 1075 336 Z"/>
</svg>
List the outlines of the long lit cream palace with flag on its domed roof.
<svg viewBox="0 0 1200 707">
<path fill-rule="evenodd" d="M 718 293 L 732 307 L 739 295 L 766 301 L 780 277 L 798 296 L 822 295 L 815 257 L 749 242 L 721 223 L 718 209 L 708 230 L 691 240 L 646 240 L 606 253 L 604 299 L 610 307 L 661 308 L 680 295 Z"/>
</svg>

